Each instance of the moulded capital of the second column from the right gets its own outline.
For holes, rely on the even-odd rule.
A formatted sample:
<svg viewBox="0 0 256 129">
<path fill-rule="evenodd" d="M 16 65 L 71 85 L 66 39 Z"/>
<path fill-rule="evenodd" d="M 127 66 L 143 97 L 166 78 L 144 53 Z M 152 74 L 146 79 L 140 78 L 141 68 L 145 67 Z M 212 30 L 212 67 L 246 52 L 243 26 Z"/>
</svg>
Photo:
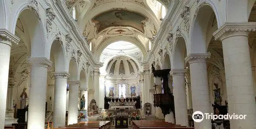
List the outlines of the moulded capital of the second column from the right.
<svg viewBox="0 0 256 129">
<path fill-rule="evenodd" d="M 205 62 L 205 59 L 210 58 L 211 54 L 208 53 L 193 53 L 189 54 L 186 58 L 185 61 L 191 63 L 195 62 Z"/>
</svg>

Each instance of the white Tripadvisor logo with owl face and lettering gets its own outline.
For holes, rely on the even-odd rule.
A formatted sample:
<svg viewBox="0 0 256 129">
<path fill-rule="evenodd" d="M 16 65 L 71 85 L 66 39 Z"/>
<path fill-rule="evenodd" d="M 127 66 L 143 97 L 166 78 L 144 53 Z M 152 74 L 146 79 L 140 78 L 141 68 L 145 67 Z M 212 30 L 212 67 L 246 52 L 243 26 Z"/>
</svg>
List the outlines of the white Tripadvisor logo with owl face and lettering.
<svg viewBox="0 0 256 129">
<path fill-rule="evenodd" d="M 209 119 L 209 120 L 216 120 L 216 119 L 245 119 L 247 115 L 235 115 L 235 113 L 233 113 L 232 115 L 230 115 L 229 113 L 227 115 L 214 115 L 213 113 L 209 114 L 209 113 L 202 113 L 201 111 L 195 111 L 192 115 L 192 119 L 199 123 L 202 122 L 202 120 L 204 119 Z"/>
</svg>

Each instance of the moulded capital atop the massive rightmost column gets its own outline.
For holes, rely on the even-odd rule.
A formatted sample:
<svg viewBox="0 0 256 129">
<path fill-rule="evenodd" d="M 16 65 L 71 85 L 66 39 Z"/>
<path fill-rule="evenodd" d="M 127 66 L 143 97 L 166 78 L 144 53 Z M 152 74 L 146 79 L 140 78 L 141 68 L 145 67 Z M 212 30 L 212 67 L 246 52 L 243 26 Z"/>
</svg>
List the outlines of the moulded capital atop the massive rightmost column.
<svg viewBox="0 0 256 129">
<path fill-rule="evenodd" d="M 213 33 L 213 36 L 216 40 L 222 41 L 225 38 L 233 36 L 248 36 L 251 31 L 256 31 L 255 22 L 226 22 L 220 29 Z"/>
</svg>

